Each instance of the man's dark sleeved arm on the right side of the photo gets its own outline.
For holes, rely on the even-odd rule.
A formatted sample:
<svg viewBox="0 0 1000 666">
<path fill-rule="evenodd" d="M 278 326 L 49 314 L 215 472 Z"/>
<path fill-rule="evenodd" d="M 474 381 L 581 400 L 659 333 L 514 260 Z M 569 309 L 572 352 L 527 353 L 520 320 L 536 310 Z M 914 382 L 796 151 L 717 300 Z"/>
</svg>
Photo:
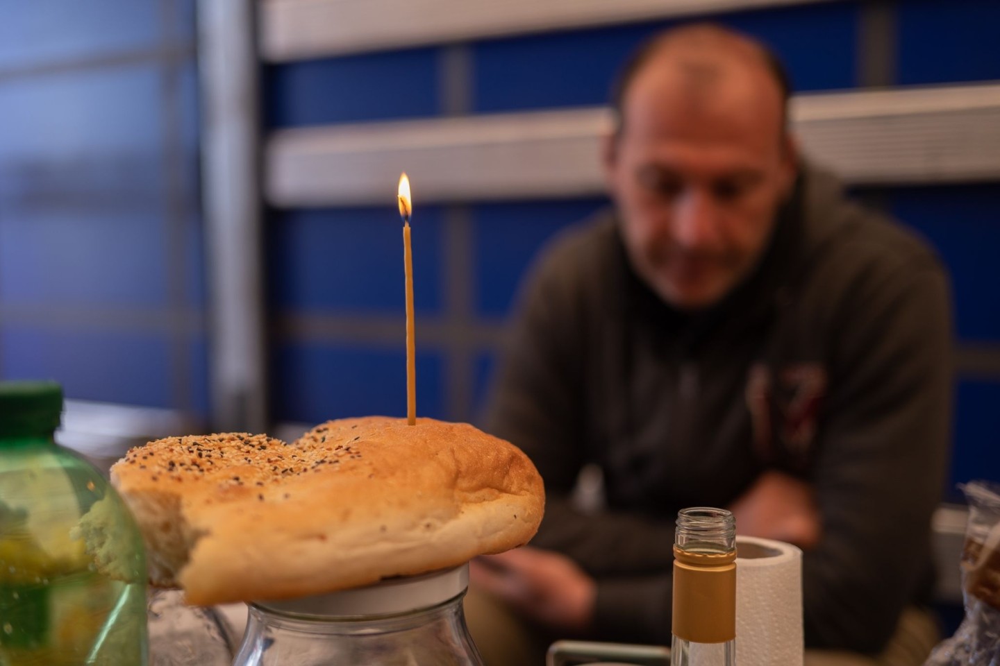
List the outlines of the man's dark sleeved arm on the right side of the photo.
<svg viewBox="0 0 1000 666">
<path fill-rule="evenodd" d="M 881 649 L 926 574 L 951 412 L 948 288 L 937 267 L 868 285 L 841 308 L 803 559 L 807 644 Z"/>
</svg>

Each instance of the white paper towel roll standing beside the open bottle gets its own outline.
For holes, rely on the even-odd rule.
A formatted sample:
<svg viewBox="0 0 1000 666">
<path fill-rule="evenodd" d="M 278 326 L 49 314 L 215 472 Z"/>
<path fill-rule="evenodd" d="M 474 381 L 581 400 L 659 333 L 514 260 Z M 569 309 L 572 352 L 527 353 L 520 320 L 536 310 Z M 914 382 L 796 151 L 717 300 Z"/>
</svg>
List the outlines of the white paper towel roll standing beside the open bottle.
<svg viewBox="0 0 1000 666">
<path fill-rule="evenodd" d="M 736 666 L 802 666 L 802 551 L 736 537 Z"/>
</svg>

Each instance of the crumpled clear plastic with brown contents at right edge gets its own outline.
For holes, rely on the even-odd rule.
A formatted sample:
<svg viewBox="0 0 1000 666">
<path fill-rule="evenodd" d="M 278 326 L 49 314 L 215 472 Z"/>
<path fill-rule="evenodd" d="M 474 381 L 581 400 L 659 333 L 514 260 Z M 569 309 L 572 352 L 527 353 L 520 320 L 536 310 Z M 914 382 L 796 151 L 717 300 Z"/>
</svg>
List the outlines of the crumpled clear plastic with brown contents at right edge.
<svg viewBox="0 0 1000 666">
<path fill-rule="evenodd" d="M 1000 484 L 972 481 L 962 490 L 969 500 L 959 564 L 965 619 L 924 666 L 1000 666 Z"/>
</svg>

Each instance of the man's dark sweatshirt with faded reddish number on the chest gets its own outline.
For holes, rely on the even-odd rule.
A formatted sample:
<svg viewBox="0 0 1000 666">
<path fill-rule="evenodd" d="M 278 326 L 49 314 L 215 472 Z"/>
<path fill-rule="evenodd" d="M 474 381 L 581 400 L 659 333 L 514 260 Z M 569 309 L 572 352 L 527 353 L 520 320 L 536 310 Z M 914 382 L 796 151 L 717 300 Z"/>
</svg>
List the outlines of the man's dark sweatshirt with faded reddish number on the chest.
<svg viewBox="0 0 1000 666">
<path fill-rule="evenodd" d="M 727 506 L 777 468 L 815 486 L 822 515 L 806 645 L 880 649 L 929 589 L 950 322 L 935 256 L 816 170 L 756 272 L 697 316 L 632 272 L 613 214 L 559 238 L 522 295 L 487 429 L 545 479 L 533 544 L 597 579 L 592 638 L 669 644 L 677 511 Z M 596 514 L 570 499 L 587 464 L 603 471 Z"/>
</svg>

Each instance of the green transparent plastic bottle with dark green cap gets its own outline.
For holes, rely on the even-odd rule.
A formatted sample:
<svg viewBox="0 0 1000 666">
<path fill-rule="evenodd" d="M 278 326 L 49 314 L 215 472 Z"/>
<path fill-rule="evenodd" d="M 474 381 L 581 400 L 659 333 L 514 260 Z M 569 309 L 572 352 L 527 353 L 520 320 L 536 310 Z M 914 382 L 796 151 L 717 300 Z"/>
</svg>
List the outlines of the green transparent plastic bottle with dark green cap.
<svg viewBox="0 0 1000 666">
<path fill-rule="evenodd" d="M 0 382 L 0 666 L 147 661 L 142 536 L 101 473 L 57 446 L 55 382 Z"/>
</svg>

